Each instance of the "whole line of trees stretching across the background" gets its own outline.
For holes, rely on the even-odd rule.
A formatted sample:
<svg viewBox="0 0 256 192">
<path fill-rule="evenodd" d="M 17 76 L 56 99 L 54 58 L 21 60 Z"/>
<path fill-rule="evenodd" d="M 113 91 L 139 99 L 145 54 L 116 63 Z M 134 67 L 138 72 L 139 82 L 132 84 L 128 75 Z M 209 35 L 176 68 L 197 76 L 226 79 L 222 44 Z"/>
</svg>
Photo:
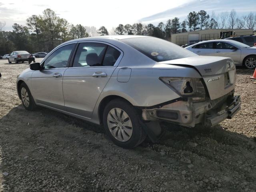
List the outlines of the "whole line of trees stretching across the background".
<svg viewBox="0 0 256 192">
<path fill-rule="evenodd" d="M 119 24 L 109 32 L 105 26 L 98 30 L 95 26 L 73 25 L 64 18 L 60 18 L 51 9 L 43 11 L 42 15 L 32 15 L 26 20 L 26 26 L 14 23 L 11 32 L 4 31 L 4 22 L 0 22 L 0 55 L 13 50 L 27 50 L 28 52 L 50 52 L 57 45 L 76 38 L 98 35 L 148 35 L 170 40 L 171 34 L 180 32 L 256 27 L 256 14 L 252 12 L 238 17 L 235 10 L 209 15 L 205 10 L 190 12 L 185 20 L 175 17 L 158 25 L 153 24 Z"/>
</svg>

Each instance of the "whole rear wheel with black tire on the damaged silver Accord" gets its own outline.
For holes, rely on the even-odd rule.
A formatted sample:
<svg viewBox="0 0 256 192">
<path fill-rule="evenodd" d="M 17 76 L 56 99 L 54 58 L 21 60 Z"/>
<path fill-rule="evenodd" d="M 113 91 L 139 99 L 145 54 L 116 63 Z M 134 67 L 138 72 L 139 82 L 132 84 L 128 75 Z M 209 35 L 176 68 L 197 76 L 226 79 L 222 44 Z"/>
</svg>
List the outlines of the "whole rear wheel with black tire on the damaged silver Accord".
<svg viewBox="0 0 256 192">
<path fill-rule="evenodd" d="M 103 123 L 110 139 L 122 148 L 134 148 L 146 138 L 135 108 L 124 100 L 115 99 L 106 105 Z"/>
</svg>

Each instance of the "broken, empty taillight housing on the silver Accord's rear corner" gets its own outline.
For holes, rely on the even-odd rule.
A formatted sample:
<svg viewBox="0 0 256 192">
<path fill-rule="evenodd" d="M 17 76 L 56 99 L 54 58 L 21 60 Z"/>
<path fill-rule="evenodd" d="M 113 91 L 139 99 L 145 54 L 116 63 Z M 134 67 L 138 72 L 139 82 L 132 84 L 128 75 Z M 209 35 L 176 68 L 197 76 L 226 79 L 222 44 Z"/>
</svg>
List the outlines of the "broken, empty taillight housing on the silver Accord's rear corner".
<svg viewBox="0 0 256 192">
<path fill-rule="evenodd" d="M 194 101 L 205 100 L 206 92 L 201 78 L 160 77 L 159 79 L 182 97 L 189 97 Z"/>
</svg>

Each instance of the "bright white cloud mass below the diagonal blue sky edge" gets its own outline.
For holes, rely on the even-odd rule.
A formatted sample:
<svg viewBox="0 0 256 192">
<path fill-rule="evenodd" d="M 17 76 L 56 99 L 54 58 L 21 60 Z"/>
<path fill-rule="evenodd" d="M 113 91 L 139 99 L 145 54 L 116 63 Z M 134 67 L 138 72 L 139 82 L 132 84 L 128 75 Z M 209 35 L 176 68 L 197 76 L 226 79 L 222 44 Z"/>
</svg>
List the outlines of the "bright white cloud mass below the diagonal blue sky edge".
<svg viewBox="0 0 256 192">
<path fill-rule="evenodd" d="M 13 23 L 26 24 L 26 19 L 33 15 L 42 14 L 43 10 L 50 8 L 72 24 L 84 26 L 104 25 L 108 29 L 118 24 L 138 22 L 140 18 L 163 12 L 166 9 L 174 8 L 189 0 L 98 0 L 98 1 L 53 1 L 44 0 L 10 0 L 8 3 L 0 3 L 0 21 L 6 21 L 6 30 L 12 30 Z"/>
</svg>

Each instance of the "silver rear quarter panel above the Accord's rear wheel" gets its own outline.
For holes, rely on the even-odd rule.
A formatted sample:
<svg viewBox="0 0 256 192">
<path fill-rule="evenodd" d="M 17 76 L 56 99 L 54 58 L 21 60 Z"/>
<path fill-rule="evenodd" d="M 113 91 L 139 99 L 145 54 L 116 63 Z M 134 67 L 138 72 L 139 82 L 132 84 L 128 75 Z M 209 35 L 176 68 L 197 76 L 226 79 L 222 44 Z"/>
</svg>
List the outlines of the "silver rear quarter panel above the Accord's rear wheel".
<svg viewBox="0 0 256 192">
<path fill-rule="evenodd" d="M 159 77 L 201 78 L 193 68 L 156 63 L 156 68 L 134 67 L 128 82 L 118 82 L 119 69 L 120 67 L 113 72 L 98 98 L 92 117 L 95 121 L 98 121 L 100 102 L 107 96 L 120 96 L 128 100 L 133 106 L 149 107 L 180 98 L 176 92 L 159 80 Z"/>
</svg>

